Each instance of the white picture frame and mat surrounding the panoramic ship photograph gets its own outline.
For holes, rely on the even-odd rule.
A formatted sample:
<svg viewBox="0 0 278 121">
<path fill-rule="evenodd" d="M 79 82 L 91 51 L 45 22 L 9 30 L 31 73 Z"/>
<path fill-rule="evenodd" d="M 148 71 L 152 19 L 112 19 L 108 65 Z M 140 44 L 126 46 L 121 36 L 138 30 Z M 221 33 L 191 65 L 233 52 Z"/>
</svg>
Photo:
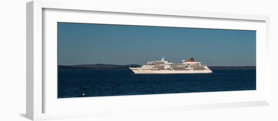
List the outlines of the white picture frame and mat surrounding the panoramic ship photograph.
<svg viewBox="0 0 278 121">
<path fill-rule="evenodd" d="M 78 6 L 76 6 L 78 4 Z M 213 13 L 213 12 L 197 12 L 183 10 L 159 10 L 148 8 L 106 8 L 105 6 L 95 5 L 94 2 L 85 1 L 32 1 L 27 3 L 27 84 L 26 84 L 26 114 L 27 118 L 32 120 L 42 119 L 57 119 L 69 117 L 84 117 L 84 116 L 99 116 L 109 114 L 128 114 L 128 113 L 148 113 L 148 111 L 173 111 L 173 110 L 194 110 L 194 109 L 213 109 L 227 107 L 243 107 L 243 106 L 260 106 L 269 105 L 270 102 L 270 68 L 269 65 L 260 66 L 263 62 L 267 62 L 269 58 L 269 17 L 262 15 L 244 15 L 244 14 L 228 14 L 228 13 Z M 45 14 L 46 13 L 46 14 Z M 85 14 L 84 14 L 85 13 Z M 98 13 L 98 14 L 94 14 Z M 59 16 L 57 16 L 59 15 Z M 62 15 L 62 16 L 61 16 Z M 64 16 L 63 16 L 64 15 Z M 72 15 L 78 16 L 81 19 L 75 19 Z M 86 15 L 87 18 L 83 16 Z M 126 16 L 127 15 L 127 16 Z M 136 17 L 149 17 L 152 21 L 158 19 L 168 20 L 176 18 L 189 18 L 204 21 L 203 24 L 192 23 L 191 27 L 195 28 L 219 28 L 219 29 L 248 29 L 258 31 L 257 35 L 257 90 L 251 91 L 225 91 L 225 92 L 201 92 L 201 93 L 176 93 L 176 94 L 158 94 L 158 95 L 136 95 L 136 96 L 111 96 L 111 97 L 87 97 L 87 98 L 72 98 L 72 99 L 57 99 L 54 93 L 57 90 L 50 90 L 57 86 L 54 81 L 45 81 L 48 78 L 56 78 L 57 75 L 51 75 L 51 69 L 47 67 L 56 67 L 57 64 L 51 63 L 55 57 L 50 57 L 52 53 L 50 49 L 56 45 L 53 42 L 45 41 L 57 37 L 55 32 L 57 29 L 53 23 L 62 22 L 80 22 L 90 23 L 90 16 L 123 16 L 125 19 L 134 19 Z M 62 17 L 62 18 L 59 18 Z M 47 21 L 47 22 L 45 22 Z M 101 23 L 103 20 L 96 20 L 95 23 Z M 116 23 L 124 24 L 121 19 L 116 19 Z M 180 20 L 183 21 L 183 20 Z M 221 24 L 204 25 L 205 21 L 219 21 Z M 117 23 L 118 22 L 118 23 Z M 122 23 L 121 23 L 122 22 Z M 155 23 L 126 23 L 128 25 L 154 25 Z M 190 22 L 190 20 L 188 20 Z M 112 22 L 105 22 L 112 23 Z M 196 23 L 196 22 L 195 22 Z M 236 25 L 234 26 L 233 24 Z M 156 26 L 184 26 L 189 25 L 165 25 Z M 178 23 L 177 23 L 178 24 Z M 231 25 L 234 27 L 232 27 Z M 225 25 L 225 26 L 224 26 Z M 48 29 L 45 29 L 48 27 Z M 55 30 L 56 29 L 56 30 Z M 52 33 L 52 31 L 54 33 Z M 45 38 L 45 34 L 49 35 Z M 43 40 L 44 39 L 44 40 Z M 53 40 L 53 39 L 52 39 Z M 56 46 L 57 47 L 57 46 Z M 259 49 L 258 49 L 259 48 Z M 55 52 L 55 49 L 53 50 Z M 57 58 L 57 57 L 56 57 Z M 262 59 L 263 58 L 263 59 Z M 266 58 L 266 59 L 265 59 Z M 51 66 L 55 65 L 55 66 Z M 56 68 L 57 69 L 57 68 Z M 259 74 L 258 74 L 259 73 Z M 47 75 L 47 76 L 46 76 Z M 49 76 L 50 75 L 50 76 Z M 57 81 L 57 80 L 56 80 Z M 48 85 L 45 87 L 45 85 Z M 57 87 L 56 87 L 57 88 Z M 56 92 L 55 92 L 56 91 Z M 235 99 L 222 99 L 223 95 L 235 97 Z M 251 95 L 251 96 L 247 96 Z M 201 98 L 214 97 L 214 100 L 197 101 Z M 176 101 L 175 104 L 170 104 L 173 100 L 182 100 L 189 98 L 188 102 Z M 241 97 L 241 98 L 239 98 Z M 167 100 L 157 102 L 157 100 Z M 134 104 L 128 102 L 136 102 L 141 100 L 142 103 Z M 146 101 L 154 100 L 154 101 Z M 108 104 L 110 101 L 116 104 Z M 126 102 L 124 102 L 126 101 Z M 80 104 L 83 105 L 80 105 Z M 72 104 L 78 105 L 73 106 Z M 95 104 L 95 105 L 94 105 Z M 97 105 L 96 105 L 97 104 Z M 105 106 L 106 105 L 106 106 Z M 65 108 L 68 107 L 68 108 Z M 91 108 L 94 107 L 95 110 Z M 131 107 L 131 108 L 128 108 Z M 75 110 L 75 111 L 74 111 Z"/>
</svg>

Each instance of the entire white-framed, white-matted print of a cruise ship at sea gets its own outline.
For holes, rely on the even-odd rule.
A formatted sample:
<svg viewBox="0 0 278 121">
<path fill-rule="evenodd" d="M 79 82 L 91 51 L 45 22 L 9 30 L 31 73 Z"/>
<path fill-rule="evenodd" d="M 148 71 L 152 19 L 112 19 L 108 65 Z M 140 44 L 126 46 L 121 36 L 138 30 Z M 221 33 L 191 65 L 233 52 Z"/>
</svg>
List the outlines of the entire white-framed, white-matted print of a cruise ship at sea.
<svg viewBox="0 0 278 121">
<path fill-rule="evenodd" d="M 57 2 L 27 3 L 30 119 L 269 103 L 268 16 Z"/>
</svg>

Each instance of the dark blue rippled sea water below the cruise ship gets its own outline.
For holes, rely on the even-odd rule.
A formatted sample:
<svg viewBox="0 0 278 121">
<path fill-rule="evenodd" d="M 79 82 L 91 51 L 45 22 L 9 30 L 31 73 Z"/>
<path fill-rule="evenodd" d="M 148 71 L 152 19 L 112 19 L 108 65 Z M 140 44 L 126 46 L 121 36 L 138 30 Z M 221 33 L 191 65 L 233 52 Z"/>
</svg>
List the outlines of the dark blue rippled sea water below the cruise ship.
<svg viewBox="0 0 278 121">
<path fill-rule="evenodd" d="M 256 89 L 256 70 L 212 71 L 134 74 L 130 70 L 59 70 L 58 98 Z"/>
</svg>

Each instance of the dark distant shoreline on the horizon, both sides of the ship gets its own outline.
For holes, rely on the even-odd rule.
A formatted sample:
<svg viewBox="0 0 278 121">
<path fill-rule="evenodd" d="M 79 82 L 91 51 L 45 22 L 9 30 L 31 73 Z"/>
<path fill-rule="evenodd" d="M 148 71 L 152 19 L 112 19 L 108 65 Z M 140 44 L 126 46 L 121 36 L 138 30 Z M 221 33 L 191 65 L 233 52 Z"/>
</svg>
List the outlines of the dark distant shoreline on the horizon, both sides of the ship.
<svg viewBox="0 0 278 121">
<path fill-rule="evenodd" d="M 141 65 L 113 65 L 113 64 L 85 64 L 85 65 L 58 65 L 58 70 L 128 70 L 129 67 Z M 212 70 L 255 70 L 256 66 L 208 66 Z"/>
</svg>

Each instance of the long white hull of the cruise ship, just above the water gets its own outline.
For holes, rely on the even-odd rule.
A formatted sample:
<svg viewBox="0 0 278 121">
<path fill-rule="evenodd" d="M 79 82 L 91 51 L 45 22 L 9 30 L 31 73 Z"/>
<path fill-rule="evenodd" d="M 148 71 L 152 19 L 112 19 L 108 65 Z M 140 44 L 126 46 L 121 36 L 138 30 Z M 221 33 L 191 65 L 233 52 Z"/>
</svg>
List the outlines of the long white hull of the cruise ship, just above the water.
<svg viewBox="0 0 278 121">
<path fill-rule="evenodd" d="M 186 70 L 171 70 L 171 69 L 162 69 L 162 70 L 150 70 L 137 68 L 129 68 L 136 74 L 181 74 L 181 73 L 212 73 L 210 69 L 186 69 Z"/>
</svg>

